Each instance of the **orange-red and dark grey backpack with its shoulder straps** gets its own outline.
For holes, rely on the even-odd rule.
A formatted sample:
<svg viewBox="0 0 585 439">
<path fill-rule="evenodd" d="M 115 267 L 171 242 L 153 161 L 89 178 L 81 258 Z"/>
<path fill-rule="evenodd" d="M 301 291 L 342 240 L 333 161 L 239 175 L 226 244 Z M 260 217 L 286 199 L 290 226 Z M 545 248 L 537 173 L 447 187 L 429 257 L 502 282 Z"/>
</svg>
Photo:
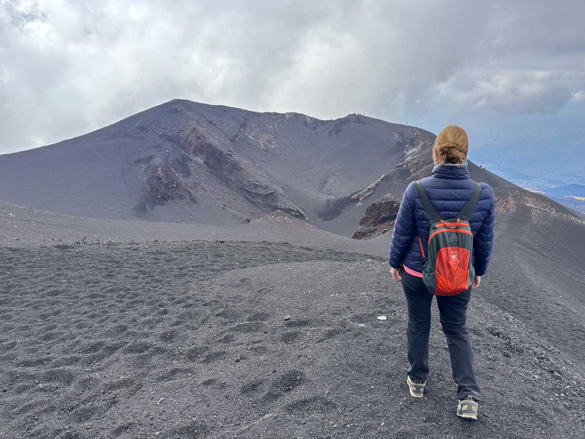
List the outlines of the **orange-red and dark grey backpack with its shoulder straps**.
<svg viewBox="0 0 585 439">
<path fill-rule="evenodd" d="M 472 265 L 473 234 L 469 225 L 481 196 L 481 184 L 476 183 L 473 194 L 455 219 L 443 219 L 437 213 L 426 194 L 422 182 L 417 180 L 418 197 L 431 220 L 429 229 L 428 255 L 421 245 L 422 280 L 429 293 L 436 296 L 455 296 L 472 285 L 475 269 Z"/>
</svg>

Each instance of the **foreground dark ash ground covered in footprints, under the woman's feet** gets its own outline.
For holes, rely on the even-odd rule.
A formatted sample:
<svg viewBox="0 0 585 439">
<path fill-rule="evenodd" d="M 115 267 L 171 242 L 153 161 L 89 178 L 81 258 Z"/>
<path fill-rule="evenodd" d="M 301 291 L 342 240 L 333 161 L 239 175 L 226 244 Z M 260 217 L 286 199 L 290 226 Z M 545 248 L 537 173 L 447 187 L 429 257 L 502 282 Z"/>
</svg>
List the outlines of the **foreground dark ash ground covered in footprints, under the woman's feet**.
<svg viewBox="0 0 585 439">
<path fill-rule="evenodd" d="M 428 391 L 408 396 L 404 293 L 384 260 L 269 242 L 95 241 L 2 246 L 0 260 L 3 437 L 585 431 L 582 362 L 491 304 L 494 284 L 469 307 L 485 397 L 469 422 L 455 416 L 436 313 Z"/>
</svg>

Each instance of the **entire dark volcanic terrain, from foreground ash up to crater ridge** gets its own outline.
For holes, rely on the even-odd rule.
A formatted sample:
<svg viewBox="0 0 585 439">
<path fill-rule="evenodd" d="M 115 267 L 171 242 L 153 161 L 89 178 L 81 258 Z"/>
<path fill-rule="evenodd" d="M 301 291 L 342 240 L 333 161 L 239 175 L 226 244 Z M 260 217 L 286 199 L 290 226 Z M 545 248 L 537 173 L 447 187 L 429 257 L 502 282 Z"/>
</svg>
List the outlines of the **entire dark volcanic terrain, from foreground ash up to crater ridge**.
<svg viewBox="0 0 585 439">
<path fill-rule="evenodd" d="M 469 309 L 486 400 L 456 418 L 436 311 L 408 397 L 391 212 L 331 232 L 427 176 L 433 139 L 171 101 L 0 156 L 0 436 L 584 437 L 585 223 L 473 163 L 497 203 Z"/>
</svg>

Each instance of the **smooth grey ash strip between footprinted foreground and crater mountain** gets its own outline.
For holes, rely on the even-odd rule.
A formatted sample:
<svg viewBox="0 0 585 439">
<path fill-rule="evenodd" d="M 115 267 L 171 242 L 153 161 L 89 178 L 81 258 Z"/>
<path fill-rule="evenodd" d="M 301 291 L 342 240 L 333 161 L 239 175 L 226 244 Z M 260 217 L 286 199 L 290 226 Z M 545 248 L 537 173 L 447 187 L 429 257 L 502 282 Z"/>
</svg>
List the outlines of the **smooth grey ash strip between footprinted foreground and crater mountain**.
<svg viewBox="0 0 585 439">
<path fill-rule="evenodd" d="M 296 245 L 362 252 L 386 257 L 390 235 L 358 240 L 313 227 L 276 211 L 234 227 L 200 224 L 79 218 L 21 207 L 0 201 L 0 244 L 101 241 L 273 241 Z"/>
</svg>

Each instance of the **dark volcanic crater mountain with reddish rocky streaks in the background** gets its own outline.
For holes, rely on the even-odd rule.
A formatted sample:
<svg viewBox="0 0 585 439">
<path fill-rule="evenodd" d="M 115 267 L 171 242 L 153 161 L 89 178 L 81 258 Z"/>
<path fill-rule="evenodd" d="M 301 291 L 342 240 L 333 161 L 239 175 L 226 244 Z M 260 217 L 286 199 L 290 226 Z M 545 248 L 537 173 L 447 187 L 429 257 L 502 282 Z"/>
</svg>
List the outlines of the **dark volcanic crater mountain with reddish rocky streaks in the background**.
<svg viewBox="0 0 585 439">
<path fill-rule="evenodd" d="M 275 210 L 350 236 L 368 205 L 431 170 L 435 136 L 361 115 L 321 121 L 173 100 L 0 156 L 0 200 L 78 217 L 243 224 Z M 470 164 L 493 187 L 514 184 Z"/>
</svg>

